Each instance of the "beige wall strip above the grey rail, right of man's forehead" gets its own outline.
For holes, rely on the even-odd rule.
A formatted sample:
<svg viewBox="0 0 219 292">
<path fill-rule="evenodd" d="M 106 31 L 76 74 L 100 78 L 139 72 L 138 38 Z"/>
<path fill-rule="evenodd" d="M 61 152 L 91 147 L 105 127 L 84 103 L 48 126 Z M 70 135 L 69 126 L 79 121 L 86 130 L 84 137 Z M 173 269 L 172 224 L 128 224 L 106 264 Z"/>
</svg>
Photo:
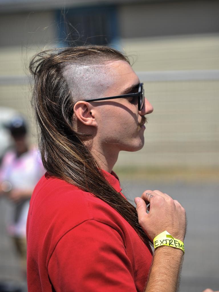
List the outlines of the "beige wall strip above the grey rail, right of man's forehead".
<svg viewBox="0 0 219 292">
<path fill-rule="evenodd" d="M 219 33 L 122 39 L 121 47 L 136 71 L 219 69 Z"/>
</svg>

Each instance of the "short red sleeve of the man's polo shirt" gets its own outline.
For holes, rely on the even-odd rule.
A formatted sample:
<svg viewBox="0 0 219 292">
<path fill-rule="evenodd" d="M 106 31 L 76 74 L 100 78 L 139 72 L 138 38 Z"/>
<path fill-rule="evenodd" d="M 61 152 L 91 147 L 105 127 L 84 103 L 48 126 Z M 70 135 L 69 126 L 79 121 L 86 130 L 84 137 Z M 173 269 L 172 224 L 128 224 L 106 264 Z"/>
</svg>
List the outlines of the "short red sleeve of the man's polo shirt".
<svg viewBox="0 0 219 292">
<path fill-rule="evenodd" d="M 133 268 L 119 233 L 96 220 L 67 232 L 49 260 L 56 292 L 136 292 Z"/>
</svg>

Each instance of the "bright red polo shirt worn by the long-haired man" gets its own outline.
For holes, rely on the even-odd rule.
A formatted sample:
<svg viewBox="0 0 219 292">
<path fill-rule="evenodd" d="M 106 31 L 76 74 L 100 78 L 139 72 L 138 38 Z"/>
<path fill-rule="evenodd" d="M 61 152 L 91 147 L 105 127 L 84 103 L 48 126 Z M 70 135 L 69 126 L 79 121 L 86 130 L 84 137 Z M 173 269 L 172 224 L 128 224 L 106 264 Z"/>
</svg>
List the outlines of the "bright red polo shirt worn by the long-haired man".
<svg viewBox="0 0 219 292">
<path fill-rule="evenodd" d="M 119 180 L 103 171 L 121 193 Z M 142 292 L 152 255 L 111 206 L 58 178 L 43 176 L 27 220 L 29 292 Z"/>
</svg>

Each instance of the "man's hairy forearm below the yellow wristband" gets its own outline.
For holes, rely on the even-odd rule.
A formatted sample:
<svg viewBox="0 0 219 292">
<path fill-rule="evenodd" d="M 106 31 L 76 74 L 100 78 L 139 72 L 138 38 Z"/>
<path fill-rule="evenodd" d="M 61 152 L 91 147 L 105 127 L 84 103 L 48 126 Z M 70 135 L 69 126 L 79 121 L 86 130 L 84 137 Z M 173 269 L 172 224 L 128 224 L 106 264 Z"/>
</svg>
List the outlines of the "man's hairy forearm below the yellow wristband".
<svg viewBox="0 0 219 292">
<path fill-rule="evenodd" d="M 169 246 L 156 248 L 144 292 L 176 292 L 183 255 L 183 251 L 178 248 Z"/>
</svg>

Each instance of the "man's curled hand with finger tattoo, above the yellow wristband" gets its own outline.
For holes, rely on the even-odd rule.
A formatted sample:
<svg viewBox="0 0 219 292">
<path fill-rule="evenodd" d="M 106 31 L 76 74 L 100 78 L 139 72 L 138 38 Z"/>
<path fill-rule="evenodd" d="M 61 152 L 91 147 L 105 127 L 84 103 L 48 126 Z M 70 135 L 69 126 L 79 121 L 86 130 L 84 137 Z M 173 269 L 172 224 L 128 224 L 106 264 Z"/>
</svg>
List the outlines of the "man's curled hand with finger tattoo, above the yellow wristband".
<svg viewBox="0 0 219 292">
<path fill-rule="evenodd" d="M 146 202 L 150 202 L 149 213 Z M 178 201 L 158 190 L 147 190 L 141 198 L 135 198 L 135 204 L 139 224 L 151 240 L 165 230 L 173 237 L 184 240 L 186 214 Z"/>
</svg>

